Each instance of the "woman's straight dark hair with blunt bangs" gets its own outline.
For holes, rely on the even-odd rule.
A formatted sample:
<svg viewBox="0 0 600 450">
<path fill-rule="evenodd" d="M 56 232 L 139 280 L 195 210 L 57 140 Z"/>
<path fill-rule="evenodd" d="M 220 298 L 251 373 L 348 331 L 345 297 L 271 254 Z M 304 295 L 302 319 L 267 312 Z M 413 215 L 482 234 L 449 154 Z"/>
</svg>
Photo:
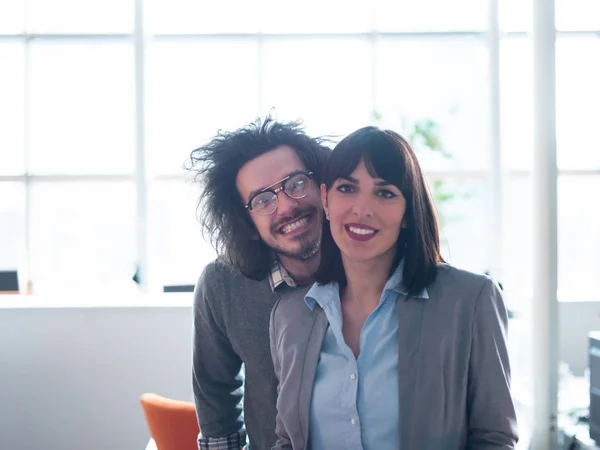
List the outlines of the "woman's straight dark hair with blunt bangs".
<svg viewBox="0 0 600 450">
<path fill-rule="evenodd" d="M 404 287 L 409 294 L 417 295 L 433 282 L 437 266 L 443 262 L 437 215 L 417 157 L 398 133 L 371 126 L 361 128 L 342 139 L 327 160 L 323 181 L 327 191 L 338 178 L 350 176 L 361 160 L 372 177 L 392 183 L 406 199 L 406 228 L 400 231 L 391 273 L 404 259 Z M 340 288 L 347 284 L 342 255 L 328 221 L 323 224 L 321 263 L 315 280 L 319 284 L 337 282 Z"/>
</svg>

